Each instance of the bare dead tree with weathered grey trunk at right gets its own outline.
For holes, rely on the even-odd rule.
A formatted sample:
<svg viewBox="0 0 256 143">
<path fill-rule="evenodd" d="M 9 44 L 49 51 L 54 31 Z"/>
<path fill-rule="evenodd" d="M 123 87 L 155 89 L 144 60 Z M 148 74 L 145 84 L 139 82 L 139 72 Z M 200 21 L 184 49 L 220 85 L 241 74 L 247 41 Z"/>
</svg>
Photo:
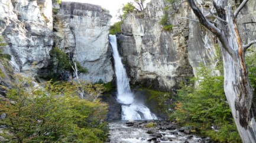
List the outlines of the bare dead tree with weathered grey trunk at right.
<svg viewBox="0 0 256 143">
<path fill-rule="evenodd" d="M 249 84 L 248 69 L 245 64 L 245 52 L 256 40 L 247 45 L 242 44 L 236 18 L 248 0 L 232 12 L 228 1 L 214 0 L 213 6 L 218 16 L 218 26 L 215 26 L 202 14 L 194 0 L 187 0 L 200 24 L 218 37 L 221 42 L 223 67 L 224 67 L 224 91 L 231 108 L 236 128 L 242 142 L 256 142 L 256 122 L 252 112 L 252 87 Z M 212 13 L 212 12 L 210 12 Z"/>
</svg>

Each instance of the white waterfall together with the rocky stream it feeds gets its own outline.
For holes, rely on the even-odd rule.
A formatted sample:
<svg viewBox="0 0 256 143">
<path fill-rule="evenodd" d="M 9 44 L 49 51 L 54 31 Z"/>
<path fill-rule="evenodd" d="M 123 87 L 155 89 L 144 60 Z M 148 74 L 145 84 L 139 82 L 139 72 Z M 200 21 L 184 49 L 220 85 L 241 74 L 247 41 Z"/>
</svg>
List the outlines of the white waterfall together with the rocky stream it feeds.
<svg viewBox="0 0 256 143">
<path fill-rule="evenodd" d="M 159 119 L 157 115 L 131 92 L 125 66 L 118 52 L 116 36 L 109 35 L 109 42 L 113 49 L 116 101 L 121 105 L 122 120 L 109 121 L 109 137 L 106 142 L 211 142 L 209 138 L 191 135 L 190 128 L 179 128 L 174 123 L 155 120 Z"/>
</svg>

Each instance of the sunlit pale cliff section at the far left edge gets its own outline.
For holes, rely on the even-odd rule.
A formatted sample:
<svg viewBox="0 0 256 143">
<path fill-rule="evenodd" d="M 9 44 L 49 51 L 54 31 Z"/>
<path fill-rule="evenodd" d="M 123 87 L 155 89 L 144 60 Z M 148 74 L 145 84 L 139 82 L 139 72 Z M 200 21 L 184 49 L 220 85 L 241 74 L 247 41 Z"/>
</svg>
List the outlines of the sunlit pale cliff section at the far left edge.
<svg viewBox="0 0 256 143">
<path fill-rule="evenodd" d="M 53 46 L 51 0 L 0 1 L 0 35 L 15 72 L 35 76 L 47 66 Z"/>
</svg>

